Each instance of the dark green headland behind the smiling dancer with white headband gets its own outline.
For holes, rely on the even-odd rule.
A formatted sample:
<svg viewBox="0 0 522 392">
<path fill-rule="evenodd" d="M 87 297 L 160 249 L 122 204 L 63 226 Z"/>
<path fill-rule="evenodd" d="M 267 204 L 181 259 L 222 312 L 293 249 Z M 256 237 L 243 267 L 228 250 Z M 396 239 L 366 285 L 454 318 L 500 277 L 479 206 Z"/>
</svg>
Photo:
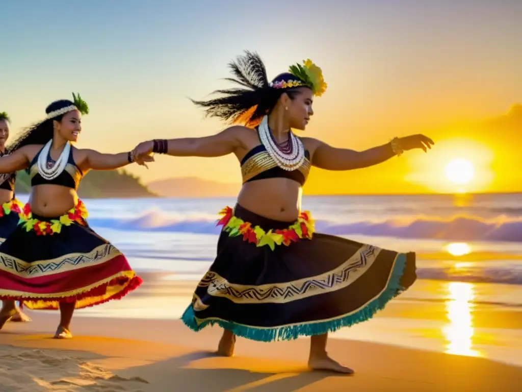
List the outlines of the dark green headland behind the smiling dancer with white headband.
<svg viewBox="0 0 522 392">
<path fill-rule="evenodd" d="M 29 175 L 19 171 L 15 191 L 29 193 L 31 189 Z M 157 197 L 144 186 L 138 177 L 125 170 L 92 170 L 81 180 L 78 189 L 80 198 L 147 198 Z"/>
</svg>

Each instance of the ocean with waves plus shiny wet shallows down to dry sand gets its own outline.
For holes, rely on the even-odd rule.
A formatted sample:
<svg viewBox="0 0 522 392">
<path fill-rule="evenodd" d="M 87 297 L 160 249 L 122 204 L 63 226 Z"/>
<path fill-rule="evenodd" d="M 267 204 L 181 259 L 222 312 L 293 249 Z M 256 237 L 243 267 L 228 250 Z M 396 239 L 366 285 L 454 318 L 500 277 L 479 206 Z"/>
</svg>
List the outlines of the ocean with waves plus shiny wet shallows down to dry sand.
<svg viewBox="0 0 522 392">
<path fill-rule="evenodd" d="M 215 256 L 218 212 L 235 200 L 84 202 L 89 224 L 146 283 L 77 316 L 176 319 Z M 304 197 L 303 209 L 317 231 L 417 252 L 418 281 L 336 337 L 522 366 L 522 194 Z"/>
</svg>

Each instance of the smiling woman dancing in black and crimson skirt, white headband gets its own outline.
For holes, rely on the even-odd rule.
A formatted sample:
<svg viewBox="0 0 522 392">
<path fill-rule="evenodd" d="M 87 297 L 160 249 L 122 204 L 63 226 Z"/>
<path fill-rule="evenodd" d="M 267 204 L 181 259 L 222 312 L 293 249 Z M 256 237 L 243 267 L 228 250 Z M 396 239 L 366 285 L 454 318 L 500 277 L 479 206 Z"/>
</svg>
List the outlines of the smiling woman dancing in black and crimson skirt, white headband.
<svg viewBox="0 0 522 392">
<path fill-rule="evenodd" d="M 123 167 L 131 152 L 102 154 L 77 149 L 81 114 L 87 103 L 59 100 L 45 111 L 0 158 L 0 172 L 27 169 L 31 195 L 20 223 L 0 245 L 0 328 L 15 313 L 15 300 L 30 309 L 60 309 L 55 338 L 71 338 L 74 309 L 120 299 L 141 284 L 122 253 L 100 237 L 86 221 L 87 210 L 76 190 L 87 171 Z M 139 164 L 151 162 L 141 157 Z"/>
</svg>

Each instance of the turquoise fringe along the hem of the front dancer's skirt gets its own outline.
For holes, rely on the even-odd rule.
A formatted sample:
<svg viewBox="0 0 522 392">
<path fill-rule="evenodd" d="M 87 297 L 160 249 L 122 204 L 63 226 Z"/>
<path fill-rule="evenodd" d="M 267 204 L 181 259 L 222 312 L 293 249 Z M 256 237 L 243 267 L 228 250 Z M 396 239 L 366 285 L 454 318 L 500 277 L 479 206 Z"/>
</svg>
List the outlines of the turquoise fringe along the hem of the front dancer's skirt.
<svg viewBox="0 0 522 392">
<path fill-rule="evenodd" d="M 207 326 L 215 324 L 233 332 L 236 336 L 257 340 L 262 342 L 270 342 L 275 340 L 293 340 L 299 336 L 323 335 L 327 332 L 334 332 L 342 327 L 350 327 L 359 322 L 371 319 L 378 310 L 383 309 L 386 304 L 406 290 L 400 284 L 402 275 L 404 274 L 407 257 L 404 253 L 399 253 L 395 260 L 393 270 L 384 291 L 366 306 L 348 314 L 339 316 L 329 321 L 315 321 L 303 324 L 293 324 L 290 326 L 280 326 L 274 328 L 256 328 L 242 324 L 236 324 L 233 321 L 212 319 L 205 320 L 201 324 L 197 324 L 194 309 L 189 305 L 185 313 L 181 317 L 185 325 L 192 330 L 198 332 Z"/>
</svg>

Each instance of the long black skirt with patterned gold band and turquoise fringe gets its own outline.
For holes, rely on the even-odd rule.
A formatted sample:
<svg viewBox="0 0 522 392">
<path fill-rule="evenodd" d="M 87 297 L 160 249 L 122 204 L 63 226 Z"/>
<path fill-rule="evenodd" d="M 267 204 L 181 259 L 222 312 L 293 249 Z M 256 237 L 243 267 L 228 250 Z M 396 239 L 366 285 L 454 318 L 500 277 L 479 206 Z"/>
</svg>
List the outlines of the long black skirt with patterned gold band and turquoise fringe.
<svg viewBox="0 0 522 392">
<path fill-rule="evenodd" d="M 234 216 L 265 231 L 292 224 L 239 205 Z M 194 331 L 218 324 L 258 341 L 320 335 L 370 319 L 416 279 L 412 252 L 319 233 L 272 250 L 223 230 L 182 320 Z"/>
</svg>

